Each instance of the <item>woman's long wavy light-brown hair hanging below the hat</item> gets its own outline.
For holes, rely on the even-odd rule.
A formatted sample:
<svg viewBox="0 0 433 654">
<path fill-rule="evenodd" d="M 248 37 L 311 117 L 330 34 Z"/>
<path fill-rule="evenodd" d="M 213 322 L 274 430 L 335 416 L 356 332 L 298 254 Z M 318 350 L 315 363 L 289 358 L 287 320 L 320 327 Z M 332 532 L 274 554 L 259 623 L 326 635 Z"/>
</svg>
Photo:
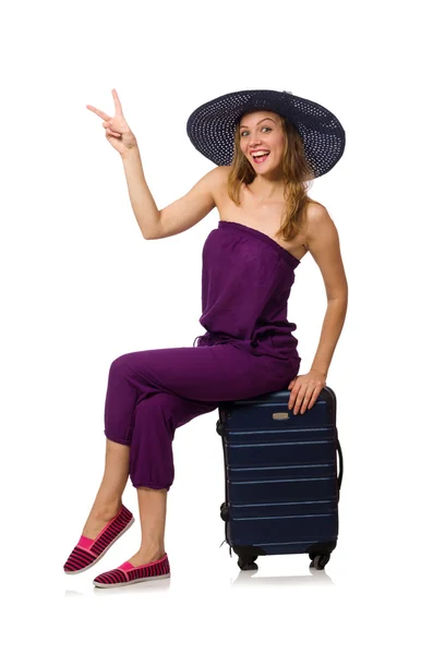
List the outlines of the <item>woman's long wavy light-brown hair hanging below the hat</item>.
<svg viewBox="0 0 433 654">
<path fill-rule="evenodd" d="M 305 225 L 306 205 L 309 203 L 320 203 L 311 199 L 308 195 L 311 187 L 310 182 L 314 179 L 314 172 L 305 158 L 301 135 L 296 126 L 286 120 L 286 118 L 280 114 L 277 116 L 280 120 L 285 140 L 281 161 L 281 172 L 285 181 L 285 207 L 281 216 L 281 225 L 276 237 L 282 238 L 285 241 L 291 241 L 301 232 Z M 239 125 L 241 119 L 242 117 L 236 125 L 233 159 L 227 180 L 228 195 L 238 206 L 240 205 L 242 183 L 251 184 L 256 177 L 253 167 L 240 147 Z"/>
</svg>

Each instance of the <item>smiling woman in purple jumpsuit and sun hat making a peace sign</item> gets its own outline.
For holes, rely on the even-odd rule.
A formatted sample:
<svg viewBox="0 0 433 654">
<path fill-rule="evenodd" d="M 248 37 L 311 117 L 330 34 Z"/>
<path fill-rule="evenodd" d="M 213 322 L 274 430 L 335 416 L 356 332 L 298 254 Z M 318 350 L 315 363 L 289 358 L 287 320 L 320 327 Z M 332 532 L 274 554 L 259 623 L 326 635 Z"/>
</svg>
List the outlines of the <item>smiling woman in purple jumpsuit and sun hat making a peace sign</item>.
<svg viewBox="0 0 433 654">
<path fill-rule="evenodd" d="M 187 131 L 217 167 L 158 210 L 136 138 L 115 89 L 112 95 L 112 118 L 87 108 L 104 120 L 106 137 L 122 157 L 143 237 L 178 234 L 214 207 L 220 220 L 203 247 L 200 323 L 206 332 L 195 339 L 197 347 L 131 352 L 110 366 L 105 473 L 64 571 L 87 570 L 132 525 L 122 505 L 129 476 L 137 491 L 142 542 L 128 561 L 94 580 L 99 588 L 170 576 L 164 537 L 177 427 L 221 401 L 284 387 L 293 413 L 313 407 L 326 384 L 348 293 L 337 230 L 325 207 L 306 195 L 308 181 L 330 170 L 345 148 L 345 132 L 328 110 L 273 90 L 237 92 L 199 107 Z M 298 375 L 287 301 L 306 252 L 323 275 L 328 307 L 312 367 Z"/>
</svg>

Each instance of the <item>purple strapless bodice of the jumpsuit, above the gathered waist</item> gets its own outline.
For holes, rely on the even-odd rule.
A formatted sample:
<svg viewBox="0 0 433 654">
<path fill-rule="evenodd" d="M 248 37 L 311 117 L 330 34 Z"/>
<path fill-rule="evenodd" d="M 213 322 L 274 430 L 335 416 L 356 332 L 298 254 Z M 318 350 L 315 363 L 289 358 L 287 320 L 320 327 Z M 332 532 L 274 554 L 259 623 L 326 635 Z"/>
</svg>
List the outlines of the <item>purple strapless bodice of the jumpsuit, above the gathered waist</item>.
<svg viewBox="0 0 433 654">
<path fill-rule="evenodd" d="M 203 245 L 199 347 L 231 342 L 255 356 L 299 358 L 297 326 L 287 319 L 301 263 L 267 234 L 219 220 Z"/>
</svg>

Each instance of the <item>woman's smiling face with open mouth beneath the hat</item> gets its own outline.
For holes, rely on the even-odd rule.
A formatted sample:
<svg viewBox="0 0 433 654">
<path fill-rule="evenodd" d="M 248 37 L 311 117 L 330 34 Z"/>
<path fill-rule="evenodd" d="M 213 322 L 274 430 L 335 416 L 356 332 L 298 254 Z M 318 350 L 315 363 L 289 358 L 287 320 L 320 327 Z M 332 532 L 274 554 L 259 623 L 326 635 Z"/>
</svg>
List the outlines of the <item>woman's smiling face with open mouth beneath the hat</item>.
<svg viewBox="0 0 433 654">
<path fill-rule="evenodd" d="M 274 111 L 245 113 L 240 121 L 239 142 L 243 155 L 256 173 L 263 174 L 277 169 L 285 144 L 280 117 Z M 254 159 L 255 150 L 266 150 L 269 154 Z"/>
</svg>

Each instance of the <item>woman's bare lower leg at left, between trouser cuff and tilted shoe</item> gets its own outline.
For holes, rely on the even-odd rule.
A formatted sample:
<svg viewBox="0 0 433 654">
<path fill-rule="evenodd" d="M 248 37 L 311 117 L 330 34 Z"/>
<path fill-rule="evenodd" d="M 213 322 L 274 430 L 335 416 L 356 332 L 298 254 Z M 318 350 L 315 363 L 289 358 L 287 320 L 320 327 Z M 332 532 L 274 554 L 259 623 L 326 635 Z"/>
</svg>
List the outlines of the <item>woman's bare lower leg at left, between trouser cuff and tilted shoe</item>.
<svg viewBox="0 0 433 654">
<path fill-rule="evenodd" d="M 129 468 L 130 447 L 107 438 L 104 476 L 84 525 L 83 536 L 96 538 L 104 526 L 119 512 Z"/>
</svg>

